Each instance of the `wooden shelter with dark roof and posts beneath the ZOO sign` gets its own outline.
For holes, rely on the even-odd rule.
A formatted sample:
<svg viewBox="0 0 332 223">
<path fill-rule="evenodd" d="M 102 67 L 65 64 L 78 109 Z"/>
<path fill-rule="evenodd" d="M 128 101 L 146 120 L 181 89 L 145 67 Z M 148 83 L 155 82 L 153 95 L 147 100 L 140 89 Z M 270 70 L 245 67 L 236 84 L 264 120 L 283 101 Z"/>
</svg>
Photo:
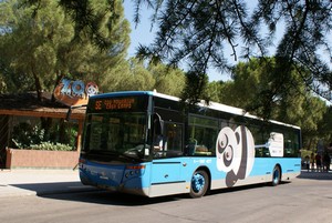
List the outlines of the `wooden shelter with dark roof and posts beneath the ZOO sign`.
<svg viewBox="0 0 332 223">
<path fill-rule="evenodd" d="M 11 141 L 12 120 L 20 118 L 65 119 L 69 107 L 52 99 L 51 93 L 43 93 L 41 100 L 35 92 L 20 94 L 0 94 L 0 169 L 6 166 L 6 151 Z M 76 150 L 80 152 L 81 135 L 85 108 L 72 110 L 71 120 L 79 124 Z"/>
</svg>

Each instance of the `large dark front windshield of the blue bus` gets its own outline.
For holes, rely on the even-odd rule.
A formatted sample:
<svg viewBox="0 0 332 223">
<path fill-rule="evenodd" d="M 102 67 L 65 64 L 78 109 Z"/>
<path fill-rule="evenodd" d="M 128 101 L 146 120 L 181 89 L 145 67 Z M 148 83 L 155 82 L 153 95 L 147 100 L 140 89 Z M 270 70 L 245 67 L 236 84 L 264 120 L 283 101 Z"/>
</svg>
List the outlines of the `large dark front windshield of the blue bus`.
<svg viewBox="0 0 332 223">
<path fill-rule="evenodd" d="M 93 160 L 141 160 L 146 148 L 146 113 L 107 112 L 87 115 L 83 151 Z"/>
</svg>

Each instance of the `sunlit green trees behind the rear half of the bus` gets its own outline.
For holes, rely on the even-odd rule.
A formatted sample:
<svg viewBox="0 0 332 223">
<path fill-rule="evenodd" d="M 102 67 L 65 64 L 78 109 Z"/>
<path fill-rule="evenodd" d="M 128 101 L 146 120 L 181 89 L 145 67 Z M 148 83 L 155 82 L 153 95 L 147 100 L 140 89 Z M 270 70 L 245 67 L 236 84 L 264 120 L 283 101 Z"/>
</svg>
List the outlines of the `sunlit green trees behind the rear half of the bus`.
<svg viewBox="0 0 332 223">
<path fill-rule="evenodd" d="M 290 75 L 284 77 L 283 84 L 280 81 L 280 85 L 274 85 L 276 75 L 271 72 L 274 61 L 273 58 L 261 58 L 239 63 L 234 68 L 232 81 L 212 82 L 209 92 L 218 102 L 242 108 L 266 119 L 299 125 L 304 148 L 314 146 L 322 138 L 329 143 L 331 112 L 326 104 L 305 90 L 304 83 L 299 80 L 303 71 L 299 73 L 294 69 Z M 282 88 L 283 92 L 276 88 Z M 269 95 L 268 92 L 272 91 L 278 93 Z"/>
</svg>

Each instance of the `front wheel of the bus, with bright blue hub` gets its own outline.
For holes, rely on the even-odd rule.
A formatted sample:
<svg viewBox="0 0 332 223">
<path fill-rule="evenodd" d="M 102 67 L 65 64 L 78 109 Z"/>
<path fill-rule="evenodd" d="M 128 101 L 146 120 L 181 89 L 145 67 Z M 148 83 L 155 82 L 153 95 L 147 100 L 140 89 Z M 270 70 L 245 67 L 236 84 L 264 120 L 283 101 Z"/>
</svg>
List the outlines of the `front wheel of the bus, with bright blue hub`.
<svg viewBox="0 0 332 223">
<path fill-rule="evenodd" d="M 209 176 L 206 171 L 195 171 L 191 178 L 190 196 L 193 199 L 201 197 L 206 194 L 209 187 Z"/>
</svg>

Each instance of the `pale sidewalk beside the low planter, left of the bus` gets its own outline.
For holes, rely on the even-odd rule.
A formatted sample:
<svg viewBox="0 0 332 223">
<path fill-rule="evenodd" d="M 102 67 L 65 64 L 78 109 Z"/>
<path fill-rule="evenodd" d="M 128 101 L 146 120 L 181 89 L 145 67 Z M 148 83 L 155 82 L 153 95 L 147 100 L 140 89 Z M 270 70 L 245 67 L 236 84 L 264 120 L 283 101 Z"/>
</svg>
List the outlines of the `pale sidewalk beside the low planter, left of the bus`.
<svg viewBox="0 0 332 223">
<path fill-rule="evenodd" d="M 83 185 L 75 170 L 0 170 L 0 197 L 96 190 Z"/>
</svg>

